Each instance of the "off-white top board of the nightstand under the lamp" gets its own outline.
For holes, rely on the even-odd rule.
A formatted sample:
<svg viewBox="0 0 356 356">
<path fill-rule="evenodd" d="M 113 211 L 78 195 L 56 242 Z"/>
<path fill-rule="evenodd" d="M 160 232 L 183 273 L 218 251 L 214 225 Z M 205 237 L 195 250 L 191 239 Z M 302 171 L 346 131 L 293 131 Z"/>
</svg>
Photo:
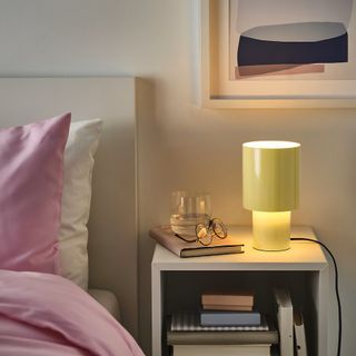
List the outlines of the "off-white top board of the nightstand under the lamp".
<svg viewBox="0 0 356 356">
<path fill-rule="evenodd" d="M 322 270 L 327 260 L 322 247 L 310 241 L 290 241 L 286 251 L 259 251 L 253 248 L 251 227 L 231 226 L 229 235 L 244 244 L 244 254 L 180 258 L 156 245 L 152 267 L 159 270 Z M 291 237 L 317 239 L 308 226 L 291 228 Z"/>
</svg>

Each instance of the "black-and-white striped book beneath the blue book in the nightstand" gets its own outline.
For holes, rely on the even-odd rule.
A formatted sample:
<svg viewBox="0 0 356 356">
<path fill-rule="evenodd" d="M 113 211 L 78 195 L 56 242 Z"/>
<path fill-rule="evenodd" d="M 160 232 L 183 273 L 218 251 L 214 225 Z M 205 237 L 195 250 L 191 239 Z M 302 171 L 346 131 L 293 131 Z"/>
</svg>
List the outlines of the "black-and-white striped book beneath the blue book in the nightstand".
<svg viewBox="0 0 356 356">
<path fill-rule="evenodd" d="M 265 316 L 261 316 L 259 325 L 201 325 L 199 313 L 177 312 L 171 315 L 171 332 L 245 332 L 245 330 L 268 330 Z"/>
</svg>

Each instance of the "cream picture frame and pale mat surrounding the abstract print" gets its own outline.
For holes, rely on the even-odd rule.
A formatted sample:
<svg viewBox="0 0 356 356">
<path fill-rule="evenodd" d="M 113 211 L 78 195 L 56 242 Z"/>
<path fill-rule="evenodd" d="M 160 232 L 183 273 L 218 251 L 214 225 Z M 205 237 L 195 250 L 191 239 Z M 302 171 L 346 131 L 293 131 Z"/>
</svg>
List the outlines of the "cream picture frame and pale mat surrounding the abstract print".
<svg viewBox="0 0 356 356">
<path fill-rule="evenodd" d="M 207 108 L 354 108 L 355 79 L 287 76 L 231 80 L 230 1 L 200 0 L 201 106 Z M 238 1 L 238 0 L 235 0 Z M 355 4 L 356 7 L 356 4 Z M 355 9 L 356 12 L 356 9 Z M 355 16 L 350 17 L 356 38 Z M 356 49 L 355 49 L 356 52 Z M 356 73 L 356 59 L 352 63 Z M 280 79 L 281 78 L 281 79 Z"/>
</svg>

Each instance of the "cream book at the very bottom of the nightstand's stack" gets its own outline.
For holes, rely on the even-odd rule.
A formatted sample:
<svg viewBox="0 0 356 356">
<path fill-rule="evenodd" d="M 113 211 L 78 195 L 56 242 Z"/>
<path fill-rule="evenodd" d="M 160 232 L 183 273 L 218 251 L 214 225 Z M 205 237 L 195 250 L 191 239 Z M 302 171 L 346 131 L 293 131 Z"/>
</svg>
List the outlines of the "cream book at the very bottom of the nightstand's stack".
<svg viewBox="0 0 356 356">
<path fill-rule="evenodd" d="M 175 345 L 174 356 L 269 356 L 270 345 Z"/>
</svg>

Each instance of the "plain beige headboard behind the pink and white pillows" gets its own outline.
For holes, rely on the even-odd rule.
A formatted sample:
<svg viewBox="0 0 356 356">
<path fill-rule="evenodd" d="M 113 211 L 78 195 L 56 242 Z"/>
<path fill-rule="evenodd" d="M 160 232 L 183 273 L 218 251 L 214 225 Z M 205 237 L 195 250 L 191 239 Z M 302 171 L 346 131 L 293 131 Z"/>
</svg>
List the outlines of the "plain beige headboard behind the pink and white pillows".
<svg viewBox="0 0 356 356">
<path fill-rule="evenodd" d="M 0 78 L 0 127 L 62 112 L 102 118 L 89 222 L 90 286 L 112 290 L 138 334 L 135 78 Z"/>
</svg>

